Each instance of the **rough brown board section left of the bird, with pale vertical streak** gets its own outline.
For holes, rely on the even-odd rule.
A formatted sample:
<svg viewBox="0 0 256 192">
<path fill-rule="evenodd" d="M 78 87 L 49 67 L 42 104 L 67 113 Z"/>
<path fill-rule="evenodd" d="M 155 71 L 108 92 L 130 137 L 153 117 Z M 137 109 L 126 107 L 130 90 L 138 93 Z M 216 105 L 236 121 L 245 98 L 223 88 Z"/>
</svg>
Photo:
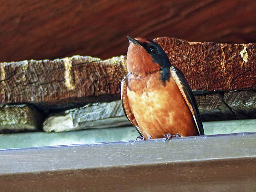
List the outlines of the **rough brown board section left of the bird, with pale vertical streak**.
<svg viewBox="0 0 256 192">
<path fill-rule="evenodd" d="M 73 56 L 53 61 L 0 62 L 0 72 L 0 104 L 45 102 L 56 105 L 97 102 L 97 96 L 102 95 L 102 100 L 108 100 L 108 95 L 120 92 L 126 65 L 124 56 L 104 61 Z"/>
</svg>

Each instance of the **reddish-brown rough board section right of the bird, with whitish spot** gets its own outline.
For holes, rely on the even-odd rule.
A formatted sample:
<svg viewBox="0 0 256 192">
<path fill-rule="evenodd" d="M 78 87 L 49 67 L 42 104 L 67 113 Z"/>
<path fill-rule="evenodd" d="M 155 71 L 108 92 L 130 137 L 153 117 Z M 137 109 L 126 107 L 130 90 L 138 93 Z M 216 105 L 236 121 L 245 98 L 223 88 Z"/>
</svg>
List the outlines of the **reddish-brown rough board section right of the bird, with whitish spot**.
<svg viewBox="0 0 256 192">
<path fill-rule="evenodd" d="M 184 73 L 195 90 L 256 88 L 256 44 L 195 43 L 157 38 L 170 62 Z"/>
</svg>

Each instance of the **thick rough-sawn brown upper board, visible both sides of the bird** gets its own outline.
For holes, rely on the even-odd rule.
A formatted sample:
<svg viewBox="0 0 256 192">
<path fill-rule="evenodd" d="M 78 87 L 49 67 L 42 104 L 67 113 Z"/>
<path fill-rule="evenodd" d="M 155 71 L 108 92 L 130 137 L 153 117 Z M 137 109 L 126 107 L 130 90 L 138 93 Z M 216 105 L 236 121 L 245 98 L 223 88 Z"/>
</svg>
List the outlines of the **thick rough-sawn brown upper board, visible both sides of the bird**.
<svg viewBox="0 0 256 192">
<path fill-rule="evenodd" d="M 256 44 L 197 43 L 167 37 L 156 42 L 194 90 L 256 89 Z M 100 102 L 110 101 L 120 93 L 120 81 L 127 73 L 124 56 L 0 62 L 0 72 L 0 104 L 86 103 L 98 102 L 100 96 Z"/>
</svg>

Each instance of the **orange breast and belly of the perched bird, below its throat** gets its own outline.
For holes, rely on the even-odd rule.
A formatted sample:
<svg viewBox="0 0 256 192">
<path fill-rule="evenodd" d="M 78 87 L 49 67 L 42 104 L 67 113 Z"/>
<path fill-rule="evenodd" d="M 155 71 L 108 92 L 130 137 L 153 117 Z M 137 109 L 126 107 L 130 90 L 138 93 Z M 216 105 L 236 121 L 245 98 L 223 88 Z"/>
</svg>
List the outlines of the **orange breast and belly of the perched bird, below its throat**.
<svg viewBox="0 0 256 192">
<path fill-rule="evenodd" d="M 192 114 L 174 79 L 164 85 L 160 72 L 147 76 L 129 76 L 127 96 L 138 126 L 146 138 L 165 134 L 197 135 Z"/>
</svg>

